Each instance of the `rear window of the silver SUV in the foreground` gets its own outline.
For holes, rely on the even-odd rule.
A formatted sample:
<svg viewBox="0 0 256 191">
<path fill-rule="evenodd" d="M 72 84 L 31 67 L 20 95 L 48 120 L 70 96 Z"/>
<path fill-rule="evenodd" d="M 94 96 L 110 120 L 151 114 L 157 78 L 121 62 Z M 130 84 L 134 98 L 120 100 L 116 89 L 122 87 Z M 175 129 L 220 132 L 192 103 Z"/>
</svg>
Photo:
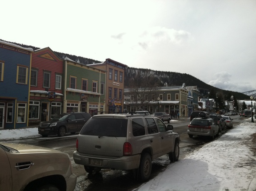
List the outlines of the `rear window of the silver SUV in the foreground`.
<svg viewBox="0 0 256 191">
<path fill-rule="evenodd" d="M 85 123 L 80 134 L 126 137 L 127 121 L 127 119 L 91 118 L 87 123 Z"/>
</svg>

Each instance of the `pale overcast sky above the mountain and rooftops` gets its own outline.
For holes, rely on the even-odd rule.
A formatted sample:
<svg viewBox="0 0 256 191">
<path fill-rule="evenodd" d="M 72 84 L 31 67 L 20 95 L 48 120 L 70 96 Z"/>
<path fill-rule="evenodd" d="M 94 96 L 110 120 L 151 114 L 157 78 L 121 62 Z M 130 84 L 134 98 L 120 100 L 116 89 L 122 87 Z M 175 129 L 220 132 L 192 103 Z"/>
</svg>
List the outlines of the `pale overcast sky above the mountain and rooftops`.
<svg viewBox="0 0 256 191">
<path fill-rule="evenodd" d="M 255 0 L 12 0 L 1 7 L 5 41 L 256 90 Z"/>
</svg>

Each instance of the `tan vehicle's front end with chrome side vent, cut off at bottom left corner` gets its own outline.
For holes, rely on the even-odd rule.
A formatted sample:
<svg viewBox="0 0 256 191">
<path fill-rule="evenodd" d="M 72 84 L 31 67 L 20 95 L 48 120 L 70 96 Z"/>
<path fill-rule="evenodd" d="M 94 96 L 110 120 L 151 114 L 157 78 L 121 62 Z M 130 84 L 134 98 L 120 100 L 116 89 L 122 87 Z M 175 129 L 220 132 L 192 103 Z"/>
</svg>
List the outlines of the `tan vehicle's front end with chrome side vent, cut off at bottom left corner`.
<svg viewBox="0 0 256 191">
<path fill-rule="evenodd" d="M 0 142 L 0 191 L 73 191 L 67 153 L 34 145 Z"/>
</svg>

